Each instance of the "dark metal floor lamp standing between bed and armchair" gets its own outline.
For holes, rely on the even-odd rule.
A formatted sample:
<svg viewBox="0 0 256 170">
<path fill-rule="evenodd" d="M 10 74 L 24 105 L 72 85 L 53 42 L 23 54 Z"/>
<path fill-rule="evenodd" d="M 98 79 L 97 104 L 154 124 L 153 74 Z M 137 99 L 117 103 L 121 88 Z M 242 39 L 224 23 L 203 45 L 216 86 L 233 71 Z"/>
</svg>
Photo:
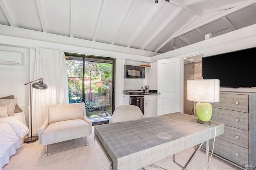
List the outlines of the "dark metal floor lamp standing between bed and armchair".
<svg viewBox="0 0 256 170">
<path fill-rule="evenodd" d="M 35 82 L 39 80 L 39 82 Z M 44 90 L 47 89 L 48 86 L 46 84 L 43 83 L 43 78 L 39 78 L 37 80 L 34 80 L 32 82 L 35 82 L 31 85 L 32 82 L 28 82 L 24 85 L 30 84 L 30 89 L 29 89 L 29 94 L 30 94 L 30 137 L 27 137 L 26 139 L 24 139 L 24 143 L 32 143 L 34 141 L 38 140 L 38 136 L 32 136 L 32 98 L 31 98 L 31 87 L 36 88 L 36 89 L 40 89 L 40 90 Z"/>
</svg>

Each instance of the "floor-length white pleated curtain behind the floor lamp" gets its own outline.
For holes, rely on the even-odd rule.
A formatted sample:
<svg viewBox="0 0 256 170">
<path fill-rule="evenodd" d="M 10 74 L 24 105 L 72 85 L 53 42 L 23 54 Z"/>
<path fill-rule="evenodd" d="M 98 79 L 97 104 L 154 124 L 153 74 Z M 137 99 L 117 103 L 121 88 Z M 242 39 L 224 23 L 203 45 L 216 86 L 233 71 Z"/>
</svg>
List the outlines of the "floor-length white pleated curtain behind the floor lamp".
<svg viewBox="0 0 256 170">
<path fill-rule="evenodd" d="M 48 86 L 46 90 L 32 88 L 32 135 L 34 135 L 44 123 L 46 106 L 68 104 L 68 76 L 64 52 L 36 48 L 32 77 L 33 80 L 43 78 L 43 82 Z"/>
</svg>

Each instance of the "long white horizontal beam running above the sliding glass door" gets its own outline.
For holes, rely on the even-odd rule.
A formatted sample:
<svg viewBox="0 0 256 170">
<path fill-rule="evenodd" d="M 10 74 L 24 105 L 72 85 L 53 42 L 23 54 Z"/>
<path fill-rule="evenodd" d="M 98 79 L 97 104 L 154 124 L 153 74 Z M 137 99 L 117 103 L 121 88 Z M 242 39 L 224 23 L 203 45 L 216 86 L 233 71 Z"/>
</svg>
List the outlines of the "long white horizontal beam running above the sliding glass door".
<svg viewBox="0 0 256 170">
<path fill-rule="evenodd" d="M 64 35 L 44 33 L 42 31 L 11 27 L 9 25 L 0 24 L 0 30 L 0 44 L 57 49 L 70 53 L 74 52 L 102 57 L 124 57 L 125 59 L 132 57 L 132 60 L 137 59 L 139 61 L 148 58 L 145 60 L 146 62 L 151 61 L 150 57 L 159 55 L 159 53 L 152 51 L 122 47 L 79 38 L 70 38 Z"/>
</svg>

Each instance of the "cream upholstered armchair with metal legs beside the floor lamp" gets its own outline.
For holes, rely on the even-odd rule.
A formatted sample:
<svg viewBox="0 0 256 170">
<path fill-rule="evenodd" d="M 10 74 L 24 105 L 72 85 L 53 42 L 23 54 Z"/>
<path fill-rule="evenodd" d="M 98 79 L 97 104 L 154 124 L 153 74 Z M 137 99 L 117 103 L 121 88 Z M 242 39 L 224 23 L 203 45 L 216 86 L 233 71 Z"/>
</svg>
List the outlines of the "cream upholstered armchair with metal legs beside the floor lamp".
<svg viewBox="0 0 256 170">
<path fill-rule="evenodd" d="M 48 106 L 45 121 L 38 131 L 39 144 L 48 145 L 92 134 L 92 121 L 86 117 L 85 104 L 58 104 Z"/>
</svg>

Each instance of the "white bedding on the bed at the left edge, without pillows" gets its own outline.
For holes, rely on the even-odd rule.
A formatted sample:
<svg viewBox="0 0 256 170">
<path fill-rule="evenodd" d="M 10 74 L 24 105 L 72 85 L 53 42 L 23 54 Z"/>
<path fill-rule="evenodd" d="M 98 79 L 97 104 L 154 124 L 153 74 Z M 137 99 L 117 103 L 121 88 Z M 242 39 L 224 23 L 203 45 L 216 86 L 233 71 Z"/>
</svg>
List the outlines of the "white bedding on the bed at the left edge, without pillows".
<svg viewBox="0 0 256 170">
<path fill-rule="evenodd" d="M 9 162 L 28 134 L 24 112 L 0 118 L 0 170 Z"/>
</svg>

